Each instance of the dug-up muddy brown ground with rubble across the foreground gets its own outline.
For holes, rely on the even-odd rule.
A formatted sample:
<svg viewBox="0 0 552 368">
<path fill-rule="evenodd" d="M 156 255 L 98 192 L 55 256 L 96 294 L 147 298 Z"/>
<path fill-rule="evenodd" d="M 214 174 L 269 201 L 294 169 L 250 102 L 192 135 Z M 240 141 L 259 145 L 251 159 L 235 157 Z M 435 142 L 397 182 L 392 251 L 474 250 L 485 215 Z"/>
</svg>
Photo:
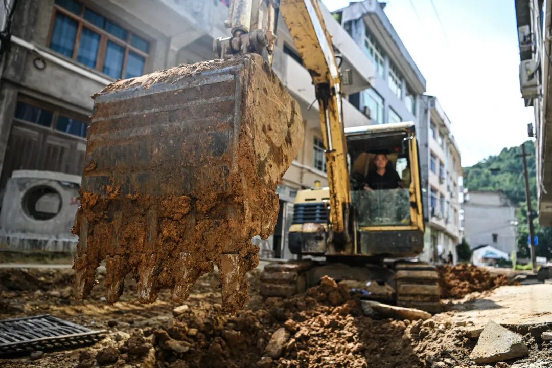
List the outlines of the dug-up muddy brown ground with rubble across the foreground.
<svg viewBox="0 0 552 368">
<path fill-rule="evenodd" d="M 410 321 L 365 317 L 359 300 L 330 278 L 303 295 L 263 301 L 259 270 L 253 271 L 250 302 L 228 316 L 222 313 L 216 272 L 201 277 L 183 305 L 174 304 L 166 291 L 154 303 L 137 303 L 136 283 L 130 277 L 119 302 L 109 305 L 102 287 L 104 274 L 100 267 L 100 285 L 90 297 L 76 301 L 71 296 L 70 266 L 0 265 L 0 319 L 49 313 L 107 330 L 95 345 L 0 359 L 0 366 L 505 368 L 521 364 L 515 365 L 519 368 L 552 359 L 552 341 L 540 339 L 542 332 L 552 330 L 548 283 L 468 293 L 444 300 L 443 313 Z M 489 320 L 523 335 L 529 355 L 487 365 L 471 361 L 471 350 Z"/>
</svg>

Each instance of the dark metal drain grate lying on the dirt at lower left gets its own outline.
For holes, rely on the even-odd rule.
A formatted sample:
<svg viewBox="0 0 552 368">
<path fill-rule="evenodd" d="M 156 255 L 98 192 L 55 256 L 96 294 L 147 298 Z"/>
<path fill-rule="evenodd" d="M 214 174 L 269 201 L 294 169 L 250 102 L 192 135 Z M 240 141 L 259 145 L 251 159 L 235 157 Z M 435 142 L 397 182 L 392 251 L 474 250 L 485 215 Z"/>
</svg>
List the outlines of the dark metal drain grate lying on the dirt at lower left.
<svg viewBox="0 0 552 368">
<path fill-rule="evenodd" d="M 105 330 L 91 330 L 64 319 L 41 316 L 0 320 L 0 355 L 57 350 L 93 344 Z"/>
</svg>

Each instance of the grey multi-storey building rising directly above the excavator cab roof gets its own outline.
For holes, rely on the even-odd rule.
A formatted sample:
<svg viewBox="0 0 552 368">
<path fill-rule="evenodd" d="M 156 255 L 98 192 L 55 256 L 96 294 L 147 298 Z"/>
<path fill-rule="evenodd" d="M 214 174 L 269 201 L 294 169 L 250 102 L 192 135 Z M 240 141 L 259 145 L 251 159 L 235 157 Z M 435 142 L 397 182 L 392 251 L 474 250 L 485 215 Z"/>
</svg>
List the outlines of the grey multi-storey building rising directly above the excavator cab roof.
<svg viewBox="0 0 552 368">
<path fill-rule="evenodd" d="M 370 88 L 349 94 L 349 102 L 370 117 L 372 124 L 417 122 L 426 80 L 385 15 L 384 6 L 365 0 L 334 12 L 375 67 Z M 350 124 L 347 119 L 346 123 Z"/>
</svg>

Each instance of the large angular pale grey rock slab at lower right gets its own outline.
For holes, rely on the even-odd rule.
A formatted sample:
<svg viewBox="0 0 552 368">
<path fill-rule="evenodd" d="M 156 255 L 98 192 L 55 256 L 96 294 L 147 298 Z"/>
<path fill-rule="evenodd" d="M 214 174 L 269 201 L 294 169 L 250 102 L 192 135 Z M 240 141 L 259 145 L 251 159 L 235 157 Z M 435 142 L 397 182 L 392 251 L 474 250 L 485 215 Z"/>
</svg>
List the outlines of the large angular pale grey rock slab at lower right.
<svg viewBox="0 0 552 368">
<path fill-rule="evenodd" d="M 470 359 L 477 364 L 495 363 L 527 354 L 529 349 L 523 343 L 521 335 L 490 320 L 481 332 L 474 350 L 471 351 Z"/>
</svg>

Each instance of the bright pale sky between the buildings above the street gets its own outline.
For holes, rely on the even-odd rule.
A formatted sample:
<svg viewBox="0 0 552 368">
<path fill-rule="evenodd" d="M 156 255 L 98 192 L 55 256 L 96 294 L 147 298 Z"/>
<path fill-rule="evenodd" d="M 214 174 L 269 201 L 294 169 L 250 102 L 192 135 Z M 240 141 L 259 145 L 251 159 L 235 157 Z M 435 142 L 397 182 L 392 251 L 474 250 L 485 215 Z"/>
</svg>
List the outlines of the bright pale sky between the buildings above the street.
<svg viewBox="0 0 552 368">
<path fill-rule="evenodd" d="M 322 0 L 330 10 L 348 0 Z M 516 11 L 505 0 L 388 0 L 385 13 L 418 69 L 427 94 L 452 122 L 462 166 L 528 139 L 533 109 L 519 91 Z M 439 22 L 440 20 L 440 22 Z"/>
</svg>

